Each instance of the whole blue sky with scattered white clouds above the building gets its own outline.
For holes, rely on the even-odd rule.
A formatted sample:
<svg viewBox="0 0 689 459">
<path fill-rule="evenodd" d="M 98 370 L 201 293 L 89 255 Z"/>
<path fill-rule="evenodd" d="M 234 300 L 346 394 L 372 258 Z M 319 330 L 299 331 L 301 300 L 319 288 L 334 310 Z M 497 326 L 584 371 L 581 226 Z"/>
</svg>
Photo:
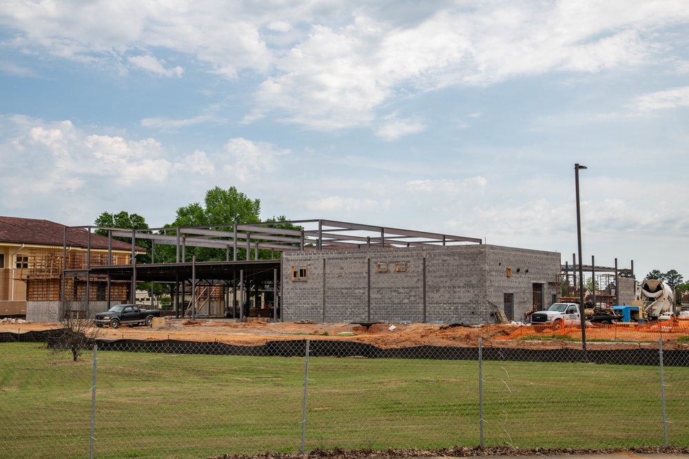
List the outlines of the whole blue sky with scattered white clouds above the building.
<svg viewBox="0 0 689 459">
<path fill-rule="evenodd" d="M 689 1 L 3 0 L 0 215 L 261 217 L 689 278 Z"/>
</svg>

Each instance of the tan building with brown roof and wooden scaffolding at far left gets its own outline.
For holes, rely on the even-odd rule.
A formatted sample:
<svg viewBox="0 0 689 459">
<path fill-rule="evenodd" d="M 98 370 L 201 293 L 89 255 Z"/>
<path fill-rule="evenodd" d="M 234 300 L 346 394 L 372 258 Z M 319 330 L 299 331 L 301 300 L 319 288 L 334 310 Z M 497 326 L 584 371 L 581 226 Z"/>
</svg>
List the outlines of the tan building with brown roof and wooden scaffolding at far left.
<svg viewBox="0 0 689 459">
<path fill-rule="evenodd" d="M 83 228 L 0 216 L 0 317 L 56 321 L 63 299 L 85 301 L 87 291 L 89 301 L 105 301 L 102 279 L 65 278 L 64 270 L 130 264 L 132 253 L 141 250 Z M 127 282 L 111 284 L 110 299 L 127 301 L 130 288 Z"/>
</svg>

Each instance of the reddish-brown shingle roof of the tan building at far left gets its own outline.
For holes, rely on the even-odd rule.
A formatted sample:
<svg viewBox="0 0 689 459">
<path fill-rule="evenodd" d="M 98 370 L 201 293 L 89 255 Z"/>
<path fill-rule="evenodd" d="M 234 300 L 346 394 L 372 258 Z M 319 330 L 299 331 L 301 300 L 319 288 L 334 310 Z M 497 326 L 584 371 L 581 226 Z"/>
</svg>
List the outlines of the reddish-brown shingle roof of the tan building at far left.
<svg viewBox="0 0 689 459">
<path fill-rule="evenodd" d="M 0 216 L 0 242 L 63 246 L 65 227 L 63 224 L 48 220 Z M 67 245 L 87 248 L 88 231 L 80 228 L 68 228 Z M 91 233 L 91 248 L 107 248 L 107 237 Z M 115 250 L 132 250 L 132 245 L 112 239 L 112 248 Z M 136 250 L 145 249 L 136 247 Z"/>
</svg>

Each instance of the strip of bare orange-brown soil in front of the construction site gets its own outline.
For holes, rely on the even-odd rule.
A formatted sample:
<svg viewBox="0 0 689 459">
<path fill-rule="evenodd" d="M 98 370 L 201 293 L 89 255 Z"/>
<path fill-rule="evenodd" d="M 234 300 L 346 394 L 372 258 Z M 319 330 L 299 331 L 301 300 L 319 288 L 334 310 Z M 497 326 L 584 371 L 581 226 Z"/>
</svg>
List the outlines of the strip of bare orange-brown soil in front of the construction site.
<svg viewBox="0 0 689 459">
<path fill-rule="evenodd" d="M 0 332 L 29 332 L 61 328 L 60 323 L 29 323 L 29 322 L 0 322 Z M 528 330 L 527 330 L 528 329 Z M 413 323 L 409 325 L 376 323 L 369 327 L 358 323 L 266 323 L 249 322 L 238 323 L 229 319 L 203 319 L 190 321 L 187 319 L 165 319 L 165 324 L 158 327 L 127 326 L 120 328 L 104 327 L 99 329 L 99 337 L 106 340 L 136 339 L 161 341 L 172 339 L 177 341 L 200 341 L 227 343 L 232 345 L 261 345 L 267 341 L 282 340 L 337 340 L 358 341 L 368 343 L 378 348 L 409 348 L 418 345 L 438 345 L 449 347 L 471 347 L 478 345 L 482 338 L 485 347 L 500 348 L 529 348 L 529 349 L 559 349 L 581 348 L 581 343 L 552 339 L 552 330 L 544 330 L 543 337 L 538 334 L 520 336 L 522 332 L 533 334 L 529 327 L 520 329 L 520 325 L 457 325 L 457 324 L 429 324 Z M 351 336 L 342 336 L 347 333 Z M 570 333 L 578 334 L 577 330 Z M 618 332 L 619 333 L 619 332 Z M 595 330 L 587 330 L 587 337 L 593 339 Z M 668 337 L 669 338 L 669 337 Z M 639 340 L 643 341 L 643 340 Z M 665 340 L 664 340 L 665 342 Z M 620 342 L 591 342 L 589 349 L 624 349 L 644 346 L 657 346 L 655 343 L 620 343 Z M 689 349 L 688 344 L 668 340 L 664 348 Z"/>
</svg>

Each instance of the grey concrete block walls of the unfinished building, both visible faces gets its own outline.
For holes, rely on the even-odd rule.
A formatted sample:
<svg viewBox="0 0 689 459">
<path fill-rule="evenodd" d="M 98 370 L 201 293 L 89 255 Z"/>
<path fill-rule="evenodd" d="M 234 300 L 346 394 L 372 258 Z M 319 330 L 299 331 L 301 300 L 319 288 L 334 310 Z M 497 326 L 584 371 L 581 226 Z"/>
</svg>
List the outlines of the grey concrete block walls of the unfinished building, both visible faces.
<svg viewBox="0 0 689 459">
<path fill-rule="evenodd" d="M 285 253 L 282 319 L 493 322 L 504 291 L 515 294 L 515 315 L 531 309 L 533 283 L 544 284 L 544 297 L 556 292 L 548 279 L 555 281 L 559 263 L 558 253 L 477 244 Z M 502 264 L 522 269 L 502 279 Z M 293 266 L 307 266 L 307 281 L 291 281 Z"/>
</svg>

